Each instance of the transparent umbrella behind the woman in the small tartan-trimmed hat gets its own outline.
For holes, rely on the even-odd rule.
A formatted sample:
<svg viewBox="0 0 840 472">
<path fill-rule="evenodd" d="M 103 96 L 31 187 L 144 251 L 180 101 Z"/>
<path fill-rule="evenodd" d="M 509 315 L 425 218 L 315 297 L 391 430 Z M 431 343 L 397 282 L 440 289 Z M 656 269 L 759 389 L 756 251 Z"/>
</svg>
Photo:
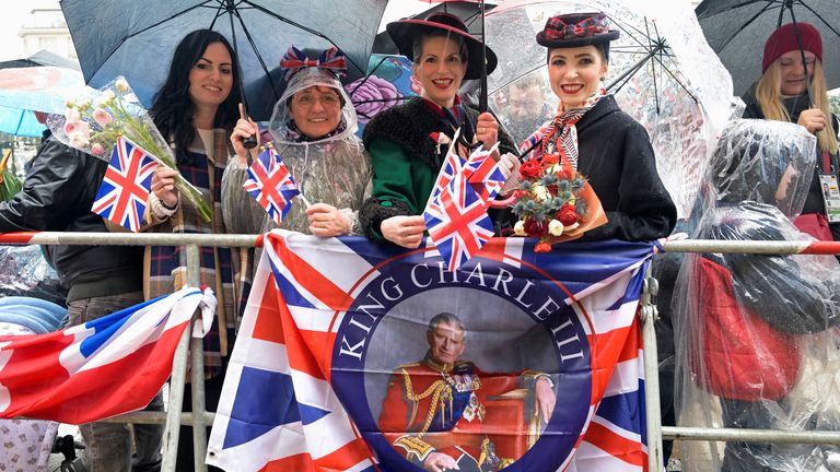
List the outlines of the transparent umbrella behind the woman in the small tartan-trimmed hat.
<svg viewBox="0 0 840 472">
<path fill-rule="evenodd" d="M 663 182 L 681 216 L 690 212 L 711 145 L 733 114 L 732 80 L 702 37 L 687 3 L 653 0 L 512 0 L 487 15 L 488 46 L 502 60 L 489 76 L 502 122 L 515 129 L 512 88 L 537 82 L 542 107 L 557 98 L 547 82 L 546 48 L 535 37 L 558 13 L 603 11 L 620 31 L 609 54 L 606 85 L 621 108 L 648 130 Z M 533 130 L 532 130 L 533 131 Z M 608 137 L 605 137 L 607 139 Z"/>
</svg>

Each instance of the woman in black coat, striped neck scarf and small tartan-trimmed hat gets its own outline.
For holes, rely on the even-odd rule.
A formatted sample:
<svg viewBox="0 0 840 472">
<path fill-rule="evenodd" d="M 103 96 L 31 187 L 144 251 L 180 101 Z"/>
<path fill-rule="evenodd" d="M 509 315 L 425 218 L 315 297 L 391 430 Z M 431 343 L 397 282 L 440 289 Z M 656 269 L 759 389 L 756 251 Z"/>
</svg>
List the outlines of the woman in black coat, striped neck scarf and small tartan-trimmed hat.
<svg viewBox="0 0 840 472">
<path fill-rule="evenodd" d="M 604 13 L 552 16 L 537 34 L 548 48 L 548 78 L 560 98 L 555 118 L 530 140 L 535 157 L 558 154 L 584 175 L 607 224 L 584 240 L 651 240 L 667 236 L 676 206 L 656 173 L 648 132 L 606 93 L 609 43 L 618 38 Z"/>
</svg>

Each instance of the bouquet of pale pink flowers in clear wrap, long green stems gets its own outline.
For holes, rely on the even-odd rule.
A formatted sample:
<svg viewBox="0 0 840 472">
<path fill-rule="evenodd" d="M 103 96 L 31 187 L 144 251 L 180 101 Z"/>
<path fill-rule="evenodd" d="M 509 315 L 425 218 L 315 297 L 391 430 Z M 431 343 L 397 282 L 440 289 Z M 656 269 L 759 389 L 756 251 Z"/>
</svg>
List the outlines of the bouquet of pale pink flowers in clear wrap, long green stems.
<svg viewBox="0 0 840 472">
<path fill-rule="evenodd" d="M 121 76 L 97 91 L 68 99 L 65 115 L 50 115 L 47 126 L 62 143 L 103 161 L 110 161 L 117 138 L 124 135 L 161 165 L 177 169 L 175 154 Z M 180 175 L 175 177 L 175 187 L 210 222 L 212 210 L 201 191 Z"/>
</svg>

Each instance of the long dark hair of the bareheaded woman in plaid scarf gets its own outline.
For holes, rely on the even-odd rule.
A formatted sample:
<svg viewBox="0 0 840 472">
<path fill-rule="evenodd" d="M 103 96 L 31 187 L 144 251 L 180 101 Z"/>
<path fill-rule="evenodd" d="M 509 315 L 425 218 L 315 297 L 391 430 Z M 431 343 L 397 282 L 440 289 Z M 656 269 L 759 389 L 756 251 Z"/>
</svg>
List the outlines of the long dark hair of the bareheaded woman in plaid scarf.
<svg viewBox="0 0 840 472">
<path fill-rule="evenodd" d="M 236 51 L 223 35 L 214 31 L 196 30 L 189 33 L 175 48 L 170 73 L 155 94 L 150 110 L 161 134 L 174 143 L 178 150 L 186 150 L 196 139 L 196 128 L 192 123 L 196 105 L 189 96 L 189 71 L 205 54 L 207 47 L 213 43 L 221 43 L 228 48 L 233 70 L 233 87 L 228 98 L 219 105 L 213 127 L 233 129 L 240 117 L 238 104 L 242 102 L 242 95 L 238 86 L 241 79 Z"/>
</svg>

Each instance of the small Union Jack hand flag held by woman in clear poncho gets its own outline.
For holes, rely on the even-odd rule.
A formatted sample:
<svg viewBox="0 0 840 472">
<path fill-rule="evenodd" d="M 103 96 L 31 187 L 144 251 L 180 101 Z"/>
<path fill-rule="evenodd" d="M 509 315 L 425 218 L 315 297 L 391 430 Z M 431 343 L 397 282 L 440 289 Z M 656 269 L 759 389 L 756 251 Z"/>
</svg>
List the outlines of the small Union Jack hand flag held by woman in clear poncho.
<svg viewBox="0 0 840 472">
<path fill-rule="evenodd" d="M 267 145 L 248 167 L 248 176 L 250 178 L 245 180 L 243 187 L 279 225 L 292 208 L 292 199 L 301 193 L 289 167 L 283 164 L 275 148 Z"/>
</svg>

